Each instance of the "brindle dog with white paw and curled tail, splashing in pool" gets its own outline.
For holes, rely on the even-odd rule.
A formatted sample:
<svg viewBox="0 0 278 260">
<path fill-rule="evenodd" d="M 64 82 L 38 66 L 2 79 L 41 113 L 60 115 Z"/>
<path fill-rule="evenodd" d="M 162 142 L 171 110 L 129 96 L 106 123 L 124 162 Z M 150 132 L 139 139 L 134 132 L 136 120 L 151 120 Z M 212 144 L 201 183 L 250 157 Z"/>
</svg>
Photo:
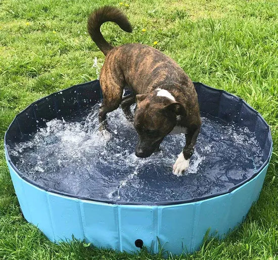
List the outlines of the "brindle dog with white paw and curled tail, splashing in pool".
<svg viewBox="0 0 278 260">
<path fill-rule="evenodd" d="M 99 121 L 107 127 L 107 113 L 121 105 L 126 118 L 134 120 L 137 157 L 149 157 L 166 135 L 176 127 L 181 128 L 186 146 L 173 165 L 173 173 L 180 176 L 189 167 L 201 127 L 194 84 L 174 60 L 155 48 L 143 44 L 110 45 L 100 31 L 108 21 L 132 32 L 127 17 L 117 8 L 105 6 L 88 17 L 88 33 L 106 56 L 100 72 L 103 103 Z M 131 94 L 123 97 L 125 88 Z M 133 118 L 130 106 L 135 102 Z"/>
</svg>

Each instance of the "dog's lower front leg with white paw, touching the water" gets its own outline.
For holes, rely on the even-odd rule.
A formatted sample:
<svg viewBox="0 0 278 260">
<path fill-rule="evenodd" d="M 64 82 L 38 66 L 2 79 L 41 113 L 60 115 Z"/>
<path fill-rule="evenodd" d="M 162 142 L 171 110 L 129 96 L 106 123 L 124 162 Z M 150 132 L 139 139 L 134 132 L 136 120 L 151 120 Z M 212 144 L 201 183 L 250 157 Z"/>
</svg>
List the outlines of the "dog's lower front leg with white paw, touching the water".
<svg viewBox="0 0 278 260">
<path fill-rule="evenodd" d="M 173 165 L 173 173 L 176 176 L 181 176 L 182 171 L 186 170 L 189 167 L 190 157 L 193 154 L 194 147 L 200 132 L 200 126 L 190 130 L 186 134 L 186 146 L 184 146 L 182 152 L 178 155 L 175 164 Z"/>
</svg>

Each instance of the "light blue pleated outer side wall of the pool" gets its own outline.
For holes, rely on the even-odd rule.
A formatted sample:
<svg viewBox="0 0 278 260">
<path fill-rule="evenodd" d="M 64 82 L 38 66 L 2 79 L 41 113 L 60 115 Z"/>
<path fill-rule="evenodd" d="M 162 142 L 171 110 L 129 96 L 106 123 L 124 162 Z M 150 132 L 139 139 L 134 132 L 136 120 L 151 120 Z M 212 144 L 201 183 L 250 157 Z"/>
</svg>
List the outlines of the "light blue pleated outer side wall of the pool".
<svg viewBox="0 0 278 260">
<path fill-rule="evenodd" d="M 85 239 L 97 247 L 132 252 L 134 242 L 157 253 L 160 245 L 172 254 L 198 250 L 208 229 L 223 238 L 245 219 L 258 199 L 268 164 L 248 183 L 210 199 L 164 206 L 116 205 L 75 199 L 37 188 L 9 164 L 24 218 L 51 241 Z M 159 243 L 158 243 L 159 241 Z"/>
</svg>

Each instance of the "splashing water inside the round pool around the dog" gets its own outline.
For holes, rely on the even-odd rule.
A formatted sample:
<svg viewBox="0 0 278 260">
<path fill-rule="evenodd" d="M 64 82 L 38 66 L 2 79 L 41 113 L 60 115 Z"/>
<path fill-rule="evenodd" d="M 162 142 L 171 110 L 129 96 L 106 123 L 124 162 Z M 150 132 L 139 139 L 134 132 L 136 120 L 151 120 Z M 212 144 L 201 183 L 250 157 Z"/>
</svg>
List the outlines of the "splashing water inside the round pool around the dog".
<svg viewBox="0 0 278 260">
<path fill-rule="evenodd" d="M 86 198 L 158 202 L 191 199 L 225 191 L 254 174 L 262 152 L 254 133 L 209 115 L 190 167 L 181 177 L 172 165 L 186 143 L 168 135 L 148 158 L 134 154 L 132 124 L 120 109 L 108 115 L 111 133 L 99 131 L 99 104 L 82 115 L 54 119 L 26 142 L 10 147 L 12 161 L 29 179 Z"/>
</svg>

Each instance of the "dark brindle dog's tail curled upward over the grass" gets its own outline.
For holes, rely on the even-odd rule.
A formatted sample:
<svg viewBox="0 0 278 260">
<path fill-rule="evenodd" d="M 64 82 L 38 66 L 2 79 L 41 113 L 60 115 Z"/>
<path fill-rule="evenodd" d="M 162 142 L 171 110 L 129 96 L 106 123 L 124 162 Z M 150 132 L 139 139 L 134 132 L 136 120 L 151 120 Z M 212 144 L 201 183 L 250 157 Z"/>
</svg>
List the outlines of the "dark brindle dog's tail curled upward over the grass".
<svg viewBox="0 0 278 260">
<path fill-rule="evenodd" d="M 131 24 L 125 14 L 115 7 L 105 6 L 92 12 L 87 23 L 88 33 L 104 55 L 113 49 L 113 46 L 105 40 L 100 30 L 101 25 L 105 22 L 114 22 L 124 31 L 132 32 Z"/>
</svg>

